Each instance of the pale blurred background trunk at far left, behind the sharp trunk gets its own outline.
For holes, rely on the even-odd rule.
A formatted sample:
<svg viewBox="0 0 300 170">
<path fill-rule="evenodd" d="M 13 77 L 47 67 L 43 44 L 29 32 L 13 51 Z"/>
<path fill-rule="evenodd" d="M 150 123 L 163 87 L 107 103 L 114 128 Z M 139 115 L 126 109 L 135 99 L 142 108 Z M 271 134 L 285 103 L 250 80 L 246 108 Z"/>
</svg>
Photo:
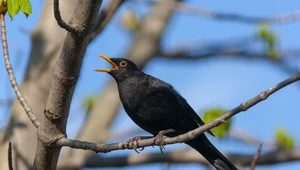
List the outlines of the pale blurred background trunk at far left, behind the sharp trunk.
<svg viewBox="0 0 300 170">
<path fill-rule="evenodd" d="M 60 28 L 53 17 L 53 1 L 46 0 L 35 30 L 31 33 L 32 49 L 21 91 L 41 119 L 53 75 L 53 67 L 62 48 L 66 31 Z M 64 0 L 60 9 L 64 20 L 69 20 L 77 0 Z M 9 31 L 9 30 L 8 30 Z M 8 142 L 13 144 L 15 169 L 31 169 L 37 144 L 37 131 L 18 101 L 12 107 L 9 123 L 0 143 L 0 157 L 7 156 Z M 6 159 L 0 159 L 0 170 L 8 167 Z"/>
</svg>

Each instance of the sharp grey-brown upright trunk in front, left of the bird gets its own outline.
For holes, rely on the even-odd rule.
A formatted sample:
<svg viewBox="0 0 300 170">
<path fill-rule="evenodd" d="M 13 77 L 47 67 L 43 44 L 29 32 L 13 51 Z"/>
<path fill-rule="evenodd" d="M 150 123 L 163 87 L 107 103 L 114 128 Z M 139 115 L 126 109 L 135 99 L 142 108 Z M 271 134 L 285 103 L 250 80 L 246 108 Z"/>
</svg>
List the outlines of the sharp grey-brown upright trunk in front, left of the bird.
<svg viewBox="0 0 300 170">
<path fill-rule="evenodd" d="M 76 30 L 90 31 L 101 3 L 99 0 L 79 1 L 70 23 L 76 23 Z M 38 129 L 34 169 L 56 169 L 61 147 L 52 146 L 66 133 L 70 104 L 88 45 L 88 37 L 86 33 L 66 36 L 54 69 L 52 86 L 44 111 L 45 117 Z"/>
</svg>

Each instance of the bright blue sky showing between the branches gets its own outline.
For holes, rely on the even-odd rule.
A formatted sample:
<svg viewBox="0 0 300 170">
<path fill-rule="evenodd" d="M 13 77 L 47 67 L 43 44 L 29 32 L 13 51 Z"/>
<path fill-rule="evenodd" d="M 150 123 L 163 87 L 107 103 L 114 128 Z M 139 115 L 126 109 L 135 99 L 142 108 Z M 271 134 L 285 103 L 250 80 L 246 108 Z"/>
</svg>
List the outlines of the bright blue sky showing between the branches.
<svg viewBox="0 0 300 170">
<path fill-rule="evenodd" d="M 105 3 L 107 1 L 104 1 Z M 187 3 L 205 9 L 243 14 L 247 16 L 274 16 L 285 14 L 298 9 L 296 0 L 289 1 L 197 1 L 189 0 Z M 20 14 L 14 20 L 6 18 L 8 43 L 10 57 L 18 82 L 22 80 L 24 66 L 30 50 L 29 32 L 35 27 L 43 1 L 32 1 L 33 15 L 26 18 Z M 95 41 L 86 51 L 82 72 L 76 87 L 72 109 L 69 117 L 68 133 L 74 134 L 76 128 L 82 123 L 83 110 L 80 109 L 83 98 L 100 92 L 111 79 L 108 74 L 95 73 L 93 70 L 108 66 L 108 64 L 97 57 L 103 53 L 111 57 L 122 57 L 129 47 L 132 37 L 119 26 L 119 17 L 128 5 L 123 6 Z M 136 8 L 141 13 L 148 11 L 144 5 Z M 27 30 L 24 33 L 22 30 Z M 190 14 L 176 13 L 166 30 L 162 41 L 166 50 L 174 49 L 180 45 L 188 45 L 191 42 L 230 42 L 234 37 L 251 36 L 257 31 L 257 25 L 239 22 L 216 21 Z M 298 32 L 300 23 L 275 24 L 270 26 L 272 31 L 280 40 L 281 48 L 297 48 L 300 46 Z M 297 38 L 296 38 L 297 37 Z M 299 63 L 299 62 L 298 62 Z M 14 94 L 8 84 L 6 72 L 4 72 L 3 60 L 0 60 L 0 99 L 13 97 Z M 191 67 L 192 66 L 192 67 Z M 232 109 L 267 88 L 279 83 L 291 75 L 278 69 L 273 64 L 261 60 L 212 58 L 199 61 L 170 61 L 164 59 L 153 59 L 146 66 L 146 73 L 156 76 L 172 84 L 182 94 L 190 105 L 199 113 L 212 106 L 220 106 Z M 79 90 L 80 89 L 80 90 Z M 26 96 L 25 96 L 26 97 Z M 239 128 L 253 134 L 263 141 L 271 141 L 274 131 L 283 127 L 294 136 L 296 146 L 299 147 L 299 103 L 300 83 L 293 84 L 275 93 L 266 101 L 259 103 L 246 112 L 235 116 L 233 127 Z M 0 108 L 0 124 L 8 120 L 8 108 Z M 2 126 L 3 127 L 3 126 Z M 121 109 L 120 115 L 113 124 L 113 129 L 136 127 Z M 145 133 L 146 134 L 146 133 Z M 217 141 L 212 139 L 220 150 L 240 151 L 242 153 L 255 153 L 255 147 L 249 147 L 233 141 Z M 168 146 L 168 150 L 183 147 L 183 144 Z M 238 146 L 238 147 L 237 147 Z M 147 148 L 144 152 L 158 152 L 158 149 Z M 106 156 L 123 155 L 134 151 L 116 151 Z M 136 166 L 124 169 L 162 169 L 165 164 L 154 164 L 149 166 Z M 197 164 L 173 165 L 172 169 L 189 167 L 199 169 Z M 257 170 L 288 170 L 299 169 L 300 163 L 278 164 L 272 167 L 258 167 Z M 115 168 L 107 168 L 115 169 Z"/>
</svg>

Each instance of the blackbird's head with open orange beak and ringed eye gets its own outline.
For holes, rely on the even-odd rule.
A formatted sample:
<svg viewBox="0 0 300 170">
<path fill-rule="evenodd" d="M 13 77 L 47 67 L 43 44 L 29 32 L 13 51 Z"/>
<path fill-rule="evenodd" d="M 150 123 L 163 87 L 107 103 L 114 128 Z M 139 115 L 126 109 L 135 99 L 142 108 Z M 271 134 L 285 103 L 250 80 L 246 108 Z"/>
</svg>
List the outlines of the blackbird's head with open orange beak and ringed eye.
<svg viewBox="0 0 300 170">
<path fill-rule="evenodd" d="M 100 57 L 108 61 L 112 68 L 97 69 L 96 72 L 107 72 L 117 82 L 121 82 L 131 76 L 140 73 L 140 69 L 130 60 L 125 58 L 109 58 L 106 55 L 100 54 Z"/>
</svg>

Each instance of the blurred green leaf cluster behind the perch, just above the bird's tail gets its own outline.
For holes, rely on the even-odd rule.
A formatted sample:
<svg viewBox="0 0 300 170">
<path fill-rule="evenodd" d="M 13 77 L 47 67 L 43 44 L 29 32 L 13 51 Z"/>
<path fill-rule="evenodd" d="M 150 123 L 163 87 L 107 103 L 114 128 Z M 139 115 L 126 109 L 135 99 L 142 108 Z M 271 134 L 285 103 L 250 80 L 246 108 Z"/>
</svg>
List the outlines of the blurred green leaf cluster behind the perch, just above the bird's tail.
<svg viewBox="0 0 300 170">
<path fill-rule="evenodd" d="M 226 112 L 227 112 L 227 110 L 219 108 L 219 107 L 207 109 L 204 111 L 203 121 L 208 123 L 208 122 L 212 121 L 213 119 L 223 115 Z M 225 137 L 225 135 L 229 131 L 230 126 L 231 126 L 231 119 L 228 119 L 226 121 L 226 123 L 223 123 L 220 126 L 213 128 L 212 132 L 214 133 L 214 135 L 217 138 L 222 139 L 223 137 Z"/>
</svg>

